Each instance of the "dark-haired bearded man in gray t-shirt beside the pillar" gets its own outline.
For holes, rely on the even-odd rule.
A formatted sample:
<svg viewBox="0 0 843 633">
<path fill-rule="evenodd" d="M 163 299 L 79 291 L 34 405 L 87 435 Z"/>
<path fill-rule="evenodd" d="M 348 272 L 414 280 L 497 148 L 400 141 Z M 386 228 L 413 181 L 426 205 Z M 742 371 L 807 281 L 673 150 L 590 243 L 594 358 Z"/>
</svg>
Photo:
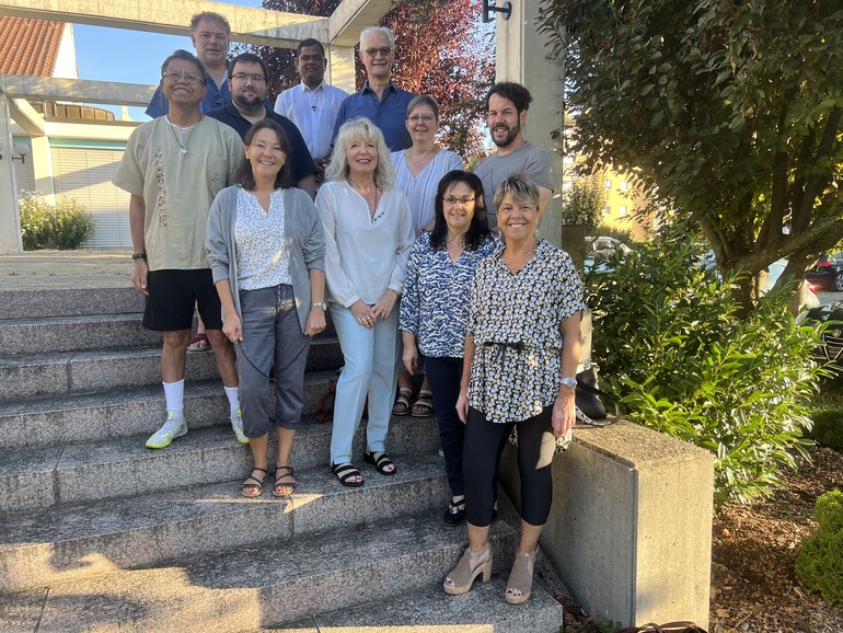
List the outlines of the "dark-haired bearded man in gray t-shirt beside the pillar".
<svg viewBox="0 0 843 633">
<path fill-rule="evenodd" d="M 524 140 L 523 126 L 530 107 L 530 91 L 512 82 L 496 83 L 486 95 L 486 125 L 497 151 L 474 170 L 483 181 L 489 227 L 497 228 L 495 189 L 507 176 L 524 172 L 539 186 L 539 210 L 544 211 L 556 188 L 551 154 Z"/>
</svg>

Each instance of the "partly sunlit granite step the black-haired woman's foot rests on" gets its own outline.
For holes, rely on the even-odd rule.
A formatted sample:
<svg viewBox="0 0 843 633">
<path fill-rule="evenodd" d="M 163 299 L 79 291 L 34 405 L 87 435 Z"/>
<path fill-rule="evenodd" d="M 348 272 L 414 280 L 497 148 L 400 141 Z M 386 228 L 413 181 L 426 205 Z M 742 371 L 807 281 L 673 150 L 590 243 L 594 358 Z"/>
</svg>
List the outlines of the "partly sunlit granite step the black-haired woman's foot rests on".
<svg viewBox="0 0 843 633">
<path fill-rule="evenodd" d="M 459 560 L 463 541 L 463 530 L 448 530 L 439 516 L 405 515 L 394 521 L 366 521 L 292 540 L 281 537 L 262 545 L 244 544 L 153 568 L 116 569 L 7 596 L 4 601 L 16 622 L 30 630 L 37 624 L 39 633 L 253 631 L 312 613 L 434 591 Z M 508 571 L 516 531 L 496 521 L 490 542 L 496 568 Z M 492 589 L 499 588 L 500 580 Z M 488 589 L 458 600 L 488 602 L 481 609 L 495 612 L 492 603 L 503 598 L 498 590 Z M 533 603 L 539 602 L 533 598 Z M 41 610 L 35 608 L 38 603 Z M 544 603 L 541 599 L 540 607 Z M 531 602 L 518 609 L 532 610 Z M 561 609 L 557 613 L 561 624 Z"/>
</svg>

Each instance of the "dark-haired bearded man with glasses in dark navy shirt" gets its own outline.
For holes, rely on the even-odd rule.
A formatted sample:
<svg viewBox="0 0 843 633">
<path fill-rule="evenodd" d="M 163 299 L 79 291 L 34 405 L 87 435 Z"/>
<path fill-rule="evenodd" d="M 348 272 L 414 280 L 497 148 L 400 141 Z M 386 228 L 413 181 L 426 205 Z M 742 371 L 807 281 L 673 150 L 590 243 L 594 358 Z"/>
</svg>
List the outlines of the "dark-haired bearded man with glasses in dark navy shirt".
<svg viewBox="0 0 843 633">
<path fill-rule="evenodd" d="M 286 116 L 273 111 L 266 103 L 266 64 L 257 55 L 243 53 L 231 60 L 229 65 L 229 90 L 231 103 L 210 111 L 208 116 L 233 127 L 245 140 L 246 133 L 253 124 L 265 118 L 272 118 L 284 128 L 289 141 L 290 151 L 287 162 L 290 165 L 296 186 L 304 189 L 313 198 L 316 195 L 316 173 L 319 169 L 313 162 L 301 131 Z"/>
</svg>

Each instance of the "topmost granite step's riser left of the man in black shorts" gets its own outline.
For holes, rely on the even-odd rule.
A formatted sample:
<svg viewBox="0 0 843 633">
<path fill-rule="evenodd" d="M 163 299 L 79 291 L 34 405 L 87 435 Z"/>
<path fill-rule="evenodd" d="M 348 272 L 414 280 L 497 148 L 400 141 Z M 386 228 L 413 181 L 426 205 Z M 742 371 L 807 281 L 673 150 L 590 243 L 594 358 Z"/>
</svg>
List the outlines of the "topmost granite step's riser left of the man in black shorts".
<svg viewBox="0 0 843 633">
<path fill-rule="evenodd" d="M 0 290 L 0 319 L 130 314 L 143 311 L 143 297 L 127 278 L 117 288 Z"/>
</svg>

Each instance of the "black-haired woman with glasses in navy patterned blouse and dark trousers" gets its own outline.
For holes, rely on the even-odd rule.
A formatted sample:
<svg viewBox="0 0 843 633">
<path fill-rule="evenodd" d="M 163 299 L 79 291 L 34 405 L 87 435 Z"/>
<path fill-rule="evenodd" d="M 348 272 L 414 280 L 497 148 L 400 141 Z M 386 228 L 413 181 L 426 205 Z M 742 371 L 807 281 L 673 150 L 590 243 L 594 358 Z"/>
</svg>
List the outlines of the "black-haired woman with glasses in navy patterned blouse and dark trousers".
<svg viewBox="0 0 843 633">
<path fill-rule="evenodd" d="M 409 373 L 419 352 L 434 392 L 451 503 L 447 526 L 465 518 L 462 479 L 464 425 L 457 416 L 462 356 L 469 324 L 469 289 L 477 263 L 500 246 L 489 231 L 483 183 L 471 173 L 452 171 L 441 181 L 434 200 L 435 226 L 409 253 L 401 319 L 403 360 Z"/>
</svg>

